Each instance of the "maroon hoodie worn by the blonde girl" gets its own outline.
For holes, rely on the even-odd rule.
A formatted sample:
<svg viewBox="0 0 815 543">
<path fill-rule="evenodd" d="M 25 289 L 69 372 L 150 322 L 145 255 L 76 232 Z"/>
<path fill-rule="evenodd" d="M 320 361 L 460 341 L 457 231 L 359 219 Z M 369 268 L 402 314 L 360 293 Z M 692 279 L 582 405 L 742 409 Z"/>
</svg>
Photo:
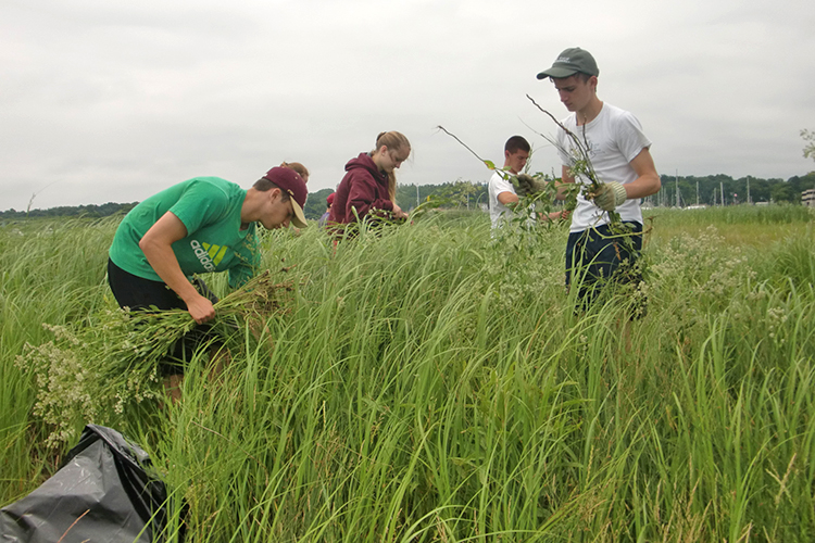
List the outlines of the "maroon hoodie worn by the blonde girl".
<svg viewBox="0 0 815 543">
<path fill-rule="evenodd" d="M 354 223 L 353 209 L 360 218 L 368 215 L 373 207 L 393 211 L 388 195 L 388 174 L 380 172 L 367 153 L 348 161 L 346 172 L 334 197 L 328 223 Z"/>
</svg>

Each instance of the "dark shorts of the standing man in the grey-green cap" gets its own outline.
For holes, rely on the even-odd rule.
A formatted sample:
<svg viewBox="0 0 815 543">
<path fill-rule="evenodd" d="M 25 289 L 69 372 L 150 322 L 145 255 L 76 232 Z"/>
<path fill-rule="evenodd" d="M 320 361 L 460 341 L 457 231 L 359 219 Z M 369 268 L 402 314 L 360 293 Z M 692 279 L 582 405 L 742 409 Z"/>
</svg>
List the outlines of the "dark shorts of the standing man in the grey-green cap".
<svg viewBox="0 0 815 543">
<path fill-rule="evenodd" d="M 641 281 L 641 275 L 632 266 L 642 251 L 642 224 L 624 224 L 630 228 L 624 236 L 612 233 L 609 225 L 568 235 L 566 286 L 579 283 L 581 301 L 590 303 L 597 288 L 610 278 L 620 283 Z"/>
</svg>

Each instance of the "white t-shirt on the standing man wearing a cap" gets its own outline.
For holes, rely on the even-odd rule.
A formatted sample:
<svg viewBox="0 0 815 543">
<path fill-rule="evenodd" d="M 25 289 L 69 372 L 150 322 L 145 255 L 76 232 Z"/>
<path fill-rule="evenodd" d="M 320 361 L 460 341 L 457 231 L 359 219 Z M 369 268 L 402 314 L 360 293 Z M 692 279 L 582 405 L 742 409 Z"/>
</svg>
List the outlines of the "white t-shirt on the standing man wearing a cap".
<svg viewBox="0 0 815 543">
<path fill-rule="evenodd" d="M 637 172 L 630 162 L 651 147 L 651 140 L 642 132 L 642 126 L 632 114 L 609 103 L 603 103 L 600 114 L 585 126 L 577 126 L 576 114 L 573 113 L 563 125 L 578 137 L 581 143 L 588 142 L 589 159 L 594 173 L 601 182 L 618 181 L 623 185 L 637 179 Z M 574 143 L 563 130 L 557 131 L 557 147 L 561 161 L 565 166 L 572 166 Z M 576 182 L 588 185 L 589 179 L 580 176 Z M 642 211 L 639 199 L 626 200 L 615 210 L 623 220 L 642 223 Z M 577 195 L 577 207 L 572 214 L 569 231 L 580 232 L 590 227 L 609 223 L 609 215 L 586 200 L 582 194 Z"/>
</svg>

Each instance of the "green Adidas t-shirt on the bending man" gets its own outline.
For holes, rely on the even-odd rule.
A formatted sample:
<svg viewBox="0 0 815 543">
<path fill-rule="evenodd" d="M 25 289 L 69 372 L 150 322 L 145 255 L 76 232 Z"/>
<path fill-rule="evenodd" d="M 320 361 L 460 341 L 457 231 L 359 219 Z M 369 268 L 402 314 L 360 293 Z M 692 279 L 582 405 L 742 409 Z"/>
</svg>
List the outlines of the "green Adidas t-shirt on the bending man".
<svg viewBox="0 0 815 543">
<path fill-rule="evenodd" d="M 240 229 L 247 191 L 220 177 L 196 177 L 152 195 L 130 210 L 116 230 L 110 257 L 120 268 L 142 279 L 161 281 L 139 248 L 145 233 L 166 212 L 187 228 L 173 243 L 181 272 L 188 277 L 229 270 L 229 286 L 240 287 L 260 265 L 255 224 Z"/>
</svg>

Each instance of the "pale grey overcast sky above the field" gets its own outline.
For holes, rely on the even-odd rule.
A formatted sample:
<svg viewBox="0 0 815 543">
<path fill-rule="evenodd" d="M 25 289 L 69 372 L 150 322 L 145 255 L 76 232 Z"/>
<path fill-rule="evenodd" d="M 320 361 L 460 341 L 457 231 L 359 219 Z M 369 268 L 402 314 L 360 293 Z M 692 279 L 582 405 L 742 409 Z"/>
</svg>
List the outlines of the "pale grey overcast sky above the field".
<svg viewBox="0 0 815 543">
<path fill-rule="evenodd" d="M 281 161 L 334 188 L 383 130 L 403 184 L 486 181 L 515 134 L 561 118 L 536 74 L 568 47 L 600 67 L 661 174 L 815 169 L 811 0 L 0 1 L 0 210 L 140 201 L 190 177 L 244 188 Z"/>
</svg>

